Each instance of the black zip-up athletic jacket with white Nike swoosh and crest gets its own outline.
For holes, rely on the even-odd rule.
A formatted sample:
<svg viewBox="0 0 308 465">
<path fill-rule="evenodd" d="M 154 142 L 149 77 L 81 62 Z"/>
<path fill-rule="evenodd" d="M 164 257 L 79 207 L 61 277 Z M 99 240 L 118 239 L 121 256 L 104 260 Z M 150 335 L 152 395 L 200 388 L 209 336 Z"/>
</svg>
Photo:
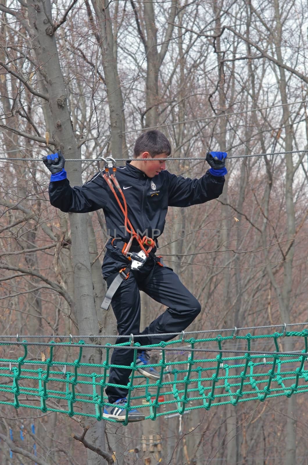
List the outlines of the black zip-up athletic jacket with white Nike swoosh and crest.
<svg viewBox="0 0 308 465">
<path fill-rule="evenodd" d="M 127 201 L 128 219 L 135 231 L 157 239 L 164 230 L 168 206 L 191 206 L 216 199 L 222 193 L 224 176 L 208 171 L 200 179 L 183 178 L 161 171 L 154 178 L 126 162 L 117 167 L 116 178 Z M 121 199 L 121 195 L 118 197 Z M 62 212 L 87 213 L 103 209 L 111 238 L 129 240 L 124 228 L 124 216 L 105 179 L 100 173 L 81 187 L 69 185 L 68 179 L 49 184 L 50 203 Z M 108 247 L 109 246 L 109 247 Z M 110 244 L 107 248 L 111 248 Z"/>
</svg>

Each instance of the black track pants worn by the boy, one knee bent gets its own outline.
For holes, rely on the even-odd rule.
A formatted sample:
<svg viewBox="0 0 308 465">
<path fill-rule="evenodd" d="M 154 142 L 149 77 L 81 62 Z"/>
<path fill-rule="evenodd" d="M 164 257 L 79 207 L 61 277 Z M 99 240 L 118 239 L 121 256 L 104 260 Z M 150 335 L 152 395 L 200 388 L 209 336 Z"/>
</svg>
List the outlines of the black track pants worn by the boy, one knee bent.
<svg viewBox="0 0 308 465">
<path fill-rule="evenodd" d="M 121 283 L 114 294 L 112 308 L 117 319 L 119 335 L 181 332 L 201 311 L 198 300 L 186 289 L 171 268 L 154 264 L 152 260 L 151 262 L 147 263 L 141 271 L 131 272 L 129 278 Z M 150 269 L 152 269 L 152 275 L 146 282 Z M 107 284 L 110 285 L 108 281 Z M 152 321 L 142 333 L 140 333 L 140 290 L 147 293 L 156 302 L 167 306 L 167 310 Z M 140 342 L 141 345 L 151 345 L 168 341 L 173 337 L 152 336 L 139 339 L 135 337 L 134 341 Z M 116 344 L 121 342 L 127 342 L 127 339 L 119 338 L 116 340 Z M 114 349 L 111 364 L 129 366 L 133 359 L 134 351 L 132 349 L 124 347 Z M 130 369 L 111 368 L 108 382 L 127 385 L 130 373 Z M 109 402 L 113 403 L 117 399 L 126 397 L 128 389 L 107 386 L 106 393 Z"/>
</svg>

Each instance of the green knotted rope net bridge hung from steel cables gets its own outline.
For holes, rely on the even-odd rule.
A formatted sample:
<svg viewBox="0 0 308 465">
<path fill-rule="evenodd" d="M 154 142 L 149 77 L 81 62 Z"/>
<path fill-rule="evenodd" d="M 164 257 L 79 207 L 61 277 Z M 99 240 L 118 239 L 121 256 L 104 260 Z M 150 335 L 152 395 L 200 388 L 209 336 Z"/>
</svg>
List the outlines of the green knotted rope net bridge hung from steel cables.
<svg viewBox="0 0 308 465">
<path fill-rule="evenodd" d="M 134 351 L 126 409 L 128 412 L 134 406 L 147 419 L 308 392 L 308 329 L 287 331 L 284 325 L 281 332 L 259 335 L 261 328 L 271 327 L 254 327 L 246 334 L 243 330 L 251 328 L 221 330 L 229 334 L 226 336 L 216 336 L 215 331 L 193 333 L 197 338 L 201 333 L 214 336 L 205 339 L 183 333 L 170 342 L 142 346 L 151 351 L 152 366 L 160 372 L 156 382 L 138 374 L 140 344 L 134 343 L 132 336 L 118 345 L 87 344 L 81 339 L 74 343 L 71 335 L 49 342 L 31 342 L 42 336 L 23 340 L 18 335 L 17 340 L 16 336 L 0 336 L 0 404 L 100 421 L 108 402 L 105 388 L 109 369 L 120 366 L 110 365 L 111 352 L 124 345 Z M 61 338 L 68 342 L 56 342 Z M 285 343 L 292 351 L 282 350 Z M 94 348 L 101 350 L 104 361 L 83 363 L 81 360 L 88 360 L 85 355 L 93 353 Z M 12 352 L 15 359 L 7 357 Z"/>
</svg>

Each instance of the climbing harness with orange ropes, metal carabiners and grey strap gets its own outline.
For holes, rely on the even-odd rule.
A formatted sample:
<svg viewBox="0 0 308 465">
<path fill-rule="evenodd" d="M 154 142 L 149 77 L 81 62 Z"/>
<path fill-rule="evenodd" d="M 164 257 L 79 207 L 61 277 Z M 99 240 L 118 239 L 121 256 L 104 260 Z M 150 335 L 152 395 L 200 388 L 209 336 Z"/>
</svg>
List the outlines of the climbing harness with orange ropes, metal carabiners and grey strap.
<svg viewBox="0 0 308 465">
<path fill-rule="evenodd" d="M 100 161 L 104 161 L 104 165 L 105 165 L 104 171 L 100 169 Z M 109 172 L 108 162 L 112 164 L 112 174 L 110 174 Z M 127 233 L 130 234 L 130 239 L 128 242 L 119 241 L 117 245 L 118 247 L 121 243 L 122 254 L 124 255 L 124 257 L 126 257 L 129 260 L 129 264 L 126 267 L 121 268 L 121 270 L 119 270 L 119 272 L 116 273 L 114 279 L 112 280 L 107 290 L 107 293 L 104 297 L 104 300 L 100 308 L 102 308 L 103 310 L 108 310 L 111 304 L 111 300 L 114 296 L 114 293 L 117 291 L 122 281 L 129 278 L 130 270 L 137 271 L 141 269 L 141 267 L 146 263 L 147 259 L 149 258 L 150 252 L 155 247 L 155 242 L 152 238 L 149 238 L 147 236 L 144 236 L 141 239 L 139 234 L 135 232 L 134 227 L 132 226 L 131 222 L 128 219 L 127 202 L 126 202 L 124 193 L 121 189 L 121 186 L 115 176 L 115 173 L 117 170 L 115 159 L 113 157 L 107 157 L 106 159 L 103 157 L 99 157 L 99 159 L 97 160 L 97 167 L 98 167 L 98 170 L 101 176 L 103 177 L 103 179 L 105 179 L 105 181 L 107 182 L 107 185 L 110 187 L 111 192 L 114 194 L 114 197 L 118 205 L 121 208 L 121 212 L 124 215 L 125 229 Z M 121 204 L 121 200 L 119 199 L 118 194 L 116 193 L 114 189 L 114 186 L 118 189 L 119 193 L 121 194 L 123 205 Z M 140 247 L 140 251 L 138 252 L 130 252 L 130 248 L 132 246 L 134 239 L 138 242 L 138 245 Z M 114 240 L 115 238 L 111 242 L 112 245 L 114 245 Z"/>
</svg>

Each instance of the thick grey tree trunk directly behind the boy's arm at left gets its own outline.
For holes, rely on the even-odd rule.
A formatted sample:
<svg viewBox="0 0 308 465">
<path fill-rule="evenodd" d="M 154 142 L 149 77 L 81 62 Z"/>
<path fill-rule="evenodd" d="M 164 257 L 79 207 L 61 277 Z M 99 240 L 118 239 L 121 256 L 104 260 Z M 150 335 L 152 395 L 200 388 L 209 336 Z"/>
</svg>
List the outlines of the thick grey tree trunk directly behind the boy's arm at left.
<svg viewBox="0 0 308 465">
<path fill-rule="evenodd" d="M 56 40 L 52 26 L 47 17 L 52 18 L 50 0 L 45 1 L 46 13 L 43 4 L 28 5 L 30 25 L 33 27 L 33 42 L 35 53 L 41 69 L 44 71 L 44 84 L 48 93 L 49 108 L 47 125 L 53 128 L 53 139 L 56 146 L 62 150 L 67 159 L 80 157 L 74 138 L 73 128 L 67 107 L 67 96 L 64 80 L 60 68 Z M 68 177 L 72 185 L 80 185 L 81 166 L 79 163 L 67 164 Z M 88 251 L 87 216 L 74 213 L 69 214 L 72 235 L 72 259 L 74 270 L 74 297 L 79 332 L 82 334 L 97 334 L 98 324 L 94 305 L 93 282 Z M 85 349 L 82 362 L 100 363 L 100 350 Z M 87 370 L 90 372 L 90 370 Z M 87 387 L 89 394 L 91 386 Z M 92 412 L 93 406 L 84 405 L 84 412 Z M 100 448 L 105 448 L 104 428 L 96 420 L 85 420 L 92 423 L 89 430 L 89 440 Z M 92 451 L 87 451 L 89 465 L 101 464 L 100 457 Z"/>
</svg>

